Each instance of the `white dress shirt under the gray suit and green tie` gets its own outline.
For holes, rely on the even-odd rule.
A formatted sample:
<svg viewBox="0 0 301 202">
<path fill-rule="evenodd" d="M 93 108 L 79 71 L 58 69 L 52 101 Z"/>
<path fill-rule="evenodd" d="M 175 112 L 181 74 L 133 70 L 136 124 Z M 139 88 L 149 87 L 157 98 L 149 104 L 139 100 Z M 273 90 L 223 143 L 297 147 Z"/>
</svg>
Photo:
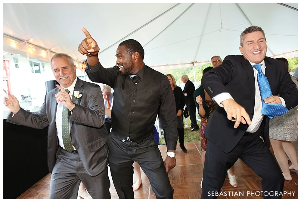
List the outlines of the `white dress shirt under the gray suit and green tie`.
<svg viewBox="0 0 301 202">
<path fill-rule="evenodd" d="M 73 83 L 71 84 L 71 86 L 69 86 L 67 89 L 70 91 L 69 95 L 72 99 L 72 95 L 73 95 L 73 91 L 74 91 L 74 87 L 77 81 L 77 77 L 76 79 L 73 81 Z M 57 113 L 55 116 L 55 123 L 56 123 L 56 127 L 57 127 L 57 137 L 58 137 L 58 141 L 60 146 L 65 149 L 64 147 L 64 143 L 63 143 L 63 137 L 62 137 L 62 116 L 63 116 L 63 103 L 59 102 L 57 104 Z M 70 129 L 69 129 L 70 130 Z M 71 138 L 70 138 L 71 139 Z M 73 145 L 72 145 L 73 146 Z M 73 149 L 75 149 L 75 147 L 73 146 Z"/>
</svg>

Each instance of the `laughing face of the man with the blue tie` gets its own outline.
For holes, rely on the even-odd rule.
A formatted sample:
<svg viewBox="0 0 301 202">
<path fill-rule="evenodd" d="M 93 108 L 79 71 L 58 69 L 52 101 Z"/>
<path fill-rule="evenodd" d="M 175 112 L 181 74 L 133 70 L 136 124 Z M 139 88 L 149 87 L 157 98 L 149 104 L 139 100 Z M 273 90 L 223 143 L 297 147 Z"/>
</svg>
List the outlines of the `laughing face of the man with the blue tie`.
<svg viewBox="0 0 301 202">
<path fill-rule="evenodd" d="M 260 31 L 244 35 L 243 45 L 239 47 L 244 58 L 255 64 L 263 61 L 266 49 L 265 37 Z"/>
</svg>

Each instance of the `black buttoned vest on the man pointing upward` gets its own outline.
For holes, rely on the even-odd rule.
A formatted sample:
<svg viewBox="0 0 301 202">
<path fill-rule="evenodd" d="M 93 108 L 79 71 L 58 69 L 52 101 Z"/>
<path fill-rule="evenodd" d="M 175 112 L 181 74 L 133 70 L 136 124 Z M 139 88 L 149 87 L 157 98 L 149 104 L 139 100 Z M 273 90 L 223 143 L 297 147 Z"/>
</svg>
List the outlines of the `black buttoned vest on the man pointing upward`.
<svg viewBox="0 0 301 202">
<path fill-rule="evenodd" d="M 119 140 L 130 137 L 140 143 L 154 132 L 162 74 L 146 65 L 144 68 L 137 85 L 129 76 L 118 76 L 114 85 L 112 130 Z"/>
</svg>

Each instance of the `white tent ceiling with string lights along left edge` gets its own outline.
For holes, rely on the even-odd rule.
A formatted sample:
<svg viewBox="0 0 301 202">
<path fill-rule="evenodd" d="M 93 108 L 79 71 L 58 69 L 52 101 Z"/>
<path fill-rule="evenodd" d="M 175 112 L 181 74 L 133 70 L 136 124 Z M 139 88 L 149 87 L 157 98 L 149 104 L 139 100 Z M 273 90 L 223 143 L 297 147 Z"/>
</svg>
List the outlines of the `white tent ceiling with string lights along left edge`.
<svg viewBox="0 0 301 202">
<path fill-rule="evenodd" d="M 162 70 L 191 66 L 183 64 L 193 61 L 200 64 L 213 55 L 240 54 L 240 33 L 257 25 L 265 31 L 267 56 L 288 52 L 298 56 L 298 4 L 286 5 L 296 10 L 277 3 L 8 3 L 3 4 L 3 50 L 26 55 L 26 43 L 20 42 L 30 39 L 30 44 L 50 53 L 68 53 L 82 62 L 85 56 L 77 47 L 85 37 L 83 26 L 98 42 L 104 67 L 115 64 L 118 44 L 133 38 L 144 47 L 145 64 Z M 48 60 L 41 50 L 28 50 L 29 57 Z"/>
</svg>

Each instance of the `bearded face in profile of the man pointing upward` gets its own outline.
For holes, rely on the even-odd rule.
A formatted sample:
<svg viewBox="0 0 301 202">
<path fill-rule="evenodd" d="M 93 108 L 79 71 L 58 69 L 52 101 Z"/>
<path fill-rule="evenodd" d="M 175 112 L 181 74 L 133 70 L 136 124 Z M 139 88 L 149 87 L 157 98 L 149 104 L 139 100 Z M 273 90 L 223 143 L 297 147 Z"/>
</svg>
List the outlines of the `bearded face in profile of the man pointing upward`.
<svg viewBox="0 0 301 202">
<path fill-rule="evenodd" d="M 126 46 L 118 46 L 116 50 L 116 65 L 119 67 L 121 75 L 130 75 L 133 71 L 133 55 L 126 52 Z"/>
</svg>

